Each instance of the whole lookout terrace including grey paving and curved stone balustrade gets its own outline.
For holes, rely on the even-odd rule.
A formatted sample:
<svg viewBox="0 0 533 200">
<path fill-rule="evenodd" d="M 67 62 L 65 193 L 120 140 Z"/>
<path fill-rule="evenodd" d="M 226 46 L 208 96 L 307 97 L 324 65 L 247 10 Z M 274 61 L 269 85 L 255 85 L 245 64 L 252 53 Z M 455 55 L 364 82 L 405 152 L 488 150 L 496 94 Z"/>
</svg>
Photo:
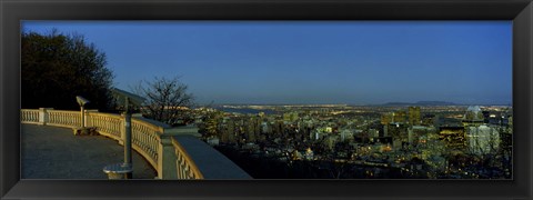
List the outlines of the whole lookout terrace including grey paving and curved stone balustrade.
<svg viewBox="0 0 533 200">
<path fill-rule="evenodd" d="M 98 136 L 73 136 L 80 111 L 21 109 L 22 179 L 105 179 L 107 164 L 122 162 L 124 120 L 84 112 Z M 195 128 L 132 118 L 133 179 L 252 179 L 203 141 Z"/>
</svg>

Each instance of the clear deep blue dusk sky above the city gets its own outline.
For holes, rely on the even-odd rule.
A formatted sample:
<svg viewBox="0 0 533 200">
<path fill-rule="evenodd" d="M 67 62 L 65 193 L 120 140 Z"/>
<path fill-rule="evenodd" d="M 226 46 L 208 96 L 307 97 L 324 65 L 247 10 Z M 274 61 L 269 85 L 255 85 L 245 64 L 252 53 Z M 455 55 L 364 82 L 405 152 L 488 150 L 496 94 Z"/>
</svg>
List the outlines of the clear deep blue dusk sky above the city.
<svg viewBox="0 0 533 200">
<path fill-rule="evenodd" d="M 181 77 L 199 103 L 512 102 L 511 21 L 23 21 L 104 52 L 115 87 Z"/>
</svg>

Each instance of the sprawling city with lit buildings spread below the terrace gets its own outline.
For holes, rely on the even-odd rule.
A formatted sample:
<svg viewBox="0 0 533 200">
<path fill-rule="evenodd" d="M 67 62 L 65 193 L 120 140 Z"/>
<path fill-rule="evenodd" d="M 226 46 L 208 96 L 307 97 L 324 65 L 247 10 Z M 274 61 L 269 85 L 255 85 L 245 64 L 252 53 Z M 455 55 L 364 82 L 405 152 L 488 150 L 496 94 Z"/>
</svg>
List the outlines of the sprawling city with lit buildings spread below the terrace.
<svg viewBox="0 0 533 200">
<path fill-rule="evenodd" d="M 510 107 L 315 106 L 272 111 L 203 110 L 197 122 L 213 146 L 288 168 L 309 163 L 305 170 L 313 174 L 295 178 L 511 177 Z M 325 176 L 313 172 L 324 169 Z"/>
</svg>

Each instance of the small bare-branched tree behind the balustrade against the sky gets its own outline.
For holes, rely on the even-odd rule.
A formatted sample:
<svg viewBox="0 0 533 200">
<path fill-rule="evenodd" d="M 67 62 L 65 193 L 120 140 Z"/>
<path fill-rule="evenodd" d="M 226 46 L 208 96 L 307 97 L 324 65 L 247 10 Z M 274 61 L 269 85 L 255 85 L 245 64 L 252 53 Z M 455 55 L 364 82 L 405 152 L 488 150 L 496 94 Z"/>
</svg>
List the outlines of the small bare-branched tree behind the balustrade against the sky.
<svg viewBox="0 0 533 200">
<path fill-rule="evenodd" d="M 172 79 L 158 78 L 153 81 L 141 81 L 133 90 L 147 98 L 141 109 L 143 116 L 168 124 L 175 124 L 187 117 L 194 106 L 194 97 L 188 93 L 188 86 L 180 82 L 179 77 Z"/>
</svg>

